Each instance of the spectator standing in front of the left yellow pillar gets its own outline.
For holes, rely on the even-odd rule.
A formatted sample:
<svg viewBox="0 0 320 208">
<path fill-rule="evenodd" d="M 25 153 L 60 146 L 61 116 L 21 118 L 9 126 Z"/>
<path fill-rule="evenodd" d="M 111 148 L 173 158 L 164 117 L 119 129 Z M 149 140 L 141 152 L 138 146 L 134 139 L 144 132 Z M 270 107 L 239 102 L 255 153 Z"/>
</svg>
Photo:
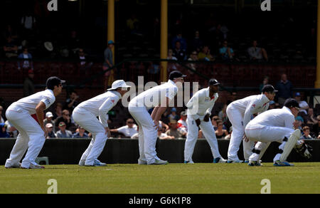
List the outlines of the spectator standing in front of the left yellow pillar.
<svg viewBox="0 0 320 208">
<path fill-rule="evenodd" d="M 114 46 L 114 41 L 110 40 L 108 41 L 108 46 L 105 49 L 105 62 L 103 63 L 103 70 L 107 70 L 108 68 L 112 68 L 113 66 L 113 54 L 112 54 L 112 48 Z M 113 80 L 112 80 L 112 76 L 111 75 L 111 71 L 107 71 L 105 73 L 105 89 L 107 88 L 107 86 L 111 85 Z"/>
</svg>

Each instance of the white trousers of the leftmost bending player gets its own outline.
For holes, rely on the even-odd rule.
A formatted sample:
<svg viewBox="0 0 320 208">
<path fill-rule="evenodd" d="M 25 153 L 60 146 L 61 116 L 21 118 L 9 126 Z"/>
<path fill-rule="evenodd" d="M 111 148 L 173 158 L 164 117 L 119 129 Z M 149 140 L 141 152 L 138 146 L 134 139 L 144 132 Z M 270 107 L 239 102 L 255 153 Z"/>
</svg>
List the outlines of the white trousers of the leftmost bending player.
<svg viewBox="0 0 320 208">
<path fill-rule="evenodd" d="M 24 153 L 21 167 L 29 168 L 31 163 L 37 165 L 35 162 L 38 157 L 46 138 L 40 125 L 31 117 L 26 110 L 15 106 L 9 106 L 6 110 L 6 118 L 14 125 L 19 134 L 16 138 L 14 148 L 11 150 L 9 159 L 6 160 L 5 167 L 18 165 Z M 26 152 L 26 150 L 28 151 Z"/>
</svg>

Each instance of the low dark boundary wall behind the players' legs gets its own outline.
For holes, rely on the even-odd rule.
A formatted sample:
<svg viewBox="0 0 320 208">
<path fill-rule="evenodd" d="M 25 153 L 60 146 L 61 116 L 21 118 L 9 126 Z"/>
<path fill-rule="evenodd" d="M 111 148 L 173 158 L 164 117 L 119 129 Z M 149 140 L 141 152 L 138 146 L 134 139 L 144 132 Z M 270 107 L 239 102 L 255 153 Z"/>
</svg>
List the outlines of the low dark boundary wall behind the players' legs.
<svg viewBox="0 0 320 208">
<path fill-rule="evenodd" d="M 156 142 L 156 151 L 158 156 L 163 160 L 171 163 L 183 162 L 183 150 L 186 140 L 158 140 Z M 4 165 L 9 157 L 12 147 L 14 147 L 15 139 L 0 138 L 0 165 Z M 43 145 L 39 157 L 48 157 L 50 165 L 59 164 L 78 164 L 82 152 L 89 145 L 90 139 L 48 139 Z M 314 148 L 314 152 L 310 160 L 300 157 L 294 150 L 288 157 L 289 162 L 320 162 L 320 140 L 308 140 L 307 144 Z M 218 140 L 220 154 L 227 158 L 229 140 Z M 272 142 L 270 147 L 262 157 L 263 162 L 272 162 L 277 152 L 279 143 Z M 242 150 L 242 145 L 240 146 Z M 242 151 L 239 151 L 239 158 L 243 160 Z M 109 164 L 114 163 L 137 163 L 139 157 L 138 140 L 131 139 L 109 139 L 105 145 L 105 149 L 99 159 Z M 212 162 L 212 154 L 208 142 L 199 139 L 193 154 L 194 162 Z"/>
</svg>

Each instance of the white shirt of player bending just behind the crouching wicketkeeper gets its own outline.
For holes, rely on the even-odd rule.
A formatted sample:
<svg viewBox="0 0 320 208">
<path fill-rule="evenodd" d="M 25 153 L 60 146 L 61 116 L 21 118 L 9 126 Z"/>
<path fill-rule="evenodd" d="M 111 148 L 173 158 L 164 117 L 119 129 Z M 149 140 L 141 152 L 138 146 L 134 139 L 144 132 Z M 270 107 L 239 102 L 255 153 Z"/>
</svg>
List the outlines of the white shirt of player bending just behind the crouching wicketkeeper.
<svg viewBox="0 0 320 208">
<path fill-rule="evenodd" d="M 251 95 L 240 100 L 235 100 L 230 103 L 230 108 L 240 110 L 243 115 L 243 126 L 251 120 L 251 115 L 255 113 L 262 113 L 268 110 L 270 100 L 266 95 Z"/>
</svg>

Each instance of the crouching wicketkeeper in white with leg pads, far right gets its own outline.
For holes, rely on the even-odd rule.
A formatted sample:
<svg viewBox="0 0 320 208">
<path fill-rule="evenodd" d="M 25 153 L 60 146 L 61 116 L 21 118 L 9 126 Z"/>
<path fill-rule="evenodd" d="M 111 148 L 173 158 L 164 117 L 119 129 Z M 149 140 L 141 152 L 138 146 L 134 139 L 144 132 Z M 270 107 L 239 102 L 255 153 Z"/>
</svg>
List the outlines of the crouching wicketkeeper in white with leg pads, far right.
<svg viewBox="0 0 320 208">
<path fill-rule="evenodd" d="M 279 153 L 275 155 L 274 166 L 292 166 L 287 157 L 301 137 L 299 129 L 294 130 L 294 118 L 299 113 L 299 103 L 292 98 L 284 102 L 282 109 L 272 109 L 257 115 L 245 127 L 245 135 L 249 140 L 257 142 L 248 165 L 260 166 L 260 158 L 271 142 L 280 142 Z"/>
</svg>

